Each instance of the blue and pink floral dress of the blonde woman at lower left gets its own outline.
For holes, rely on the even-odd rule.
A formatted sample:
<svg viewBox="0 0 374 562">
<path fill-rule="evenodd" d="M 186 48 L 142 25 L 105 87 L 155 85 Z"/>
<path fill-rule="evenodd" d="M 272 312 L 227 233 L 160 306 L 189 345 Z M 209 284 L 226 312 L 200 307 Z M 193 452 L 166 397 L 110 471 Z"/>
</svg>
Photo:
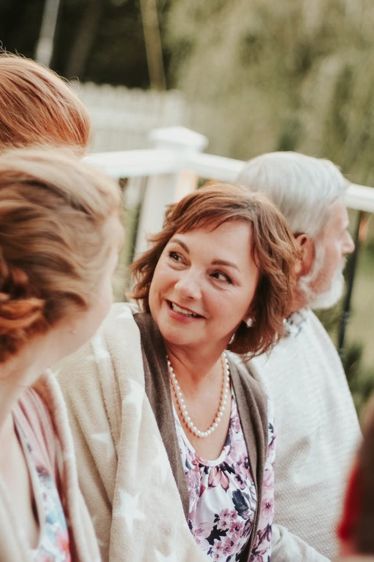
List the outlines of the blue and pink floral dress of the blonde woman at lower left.
<svg viewBox="0 0 374 562">
<path fill-rule="evenodd" d="M 71 562 L 66 519 L 54 478 L 40 463 L 17 423 L 15 427 L 29 469 L 40 527 L 39 544 L 31 550 L 31 559 L 33 562 Z"/>
</svg>

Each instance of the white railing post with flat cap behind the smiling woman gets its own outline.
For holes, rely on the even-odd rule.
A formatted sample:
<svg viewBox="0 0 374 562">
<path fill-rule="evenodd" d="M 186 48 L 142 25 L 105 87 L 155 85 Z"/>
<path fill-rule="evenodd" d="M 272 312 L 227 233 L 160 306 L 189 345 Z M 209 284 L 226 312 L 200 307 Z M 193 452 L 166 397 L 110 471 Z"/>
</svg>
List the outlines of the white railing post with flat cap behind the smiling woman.
<svg viewBox="0 0 374 562">
<path fill-rule="evenodd" d="M 154 148 L 167 149 L 176 158 L 176 173 L 149 176 L 139 217 L 135 253 L 147 247 L 146 237 L 161 229 L 165 207 L 197 187 L 198 177 L 188 166 L 188 156 L 201 152 L 208 144 L 204 135 L 182 126 L 153 129 L 149 139 Z"/>
</svg>

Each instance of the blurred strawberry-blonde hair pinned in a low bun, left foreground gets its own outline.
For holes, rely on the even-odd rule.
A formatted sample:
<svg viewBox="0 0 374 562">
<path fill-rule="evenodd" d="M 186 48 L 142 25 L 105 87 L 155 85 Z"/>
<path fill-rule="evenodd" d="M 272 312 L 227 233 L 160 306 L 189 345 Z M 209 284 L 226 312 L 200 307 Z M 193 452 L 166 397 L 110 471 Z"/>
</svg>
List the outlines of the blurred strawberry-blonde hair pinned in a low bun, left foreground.
<svg viewBox="0 0 374 562">
<path fill-rule="evenodd" d="M 95 302 L 119 209 L 116 183 L 68 149 L 0 155 L 0 362 Z"/>
</svg>

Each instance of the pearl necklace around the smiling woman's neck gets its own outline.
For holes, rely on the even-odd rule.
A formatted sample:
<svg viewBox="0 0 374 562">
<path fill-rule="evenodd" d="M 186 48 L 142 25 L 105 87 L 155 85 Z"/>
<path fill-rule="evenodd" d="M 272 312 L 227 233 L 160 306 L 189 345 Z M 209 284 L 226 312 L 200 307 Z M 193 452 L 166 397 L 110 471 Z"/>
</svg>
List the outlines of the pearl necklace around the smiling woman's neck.
<svg viewBox="0 0 374 562">
<path fill-rule="evenodd" d="M 226 353 L 223 352 L 221 355 L 223 380 L 222 380 L 222 390 L 219 399 L 218 409 L 214 415 L 213 422 L 211 423 L 209 428 L 207 428 L 205 431 L 201 431 L 200 429 L 197 429 L 196 425 L 192 422 L 190 415 L 188 415 L 186 402 L 183 398 L 183 393 L 181 391 L 181 386 L 178 383 L 176 374 L 174 373 L 174 369 L 172 367 L 172 364 L 170 363 L 168 356 L 167 356 L 167 361 L 168 361 L 169 378 L 172 383 L 174 393 L 176 395 L 176 400 L 178 402 L 179 409 L 181 410 L 183 422 L 187 425 L 187 428 L 190 429 L 191 433 L 196 435 L 196 437 L 200 437 L 200 438 L 208 437 L 211 433 L 215 431 L 216 427 L 218 427 L 218 424 L 220 423 L 223 413 L 226 409 L 227 398 L 229 395 L 229 388 L 230 388 L 230 369 L 229 369 L 229 362 L 227 360 Z"/>
</svg>

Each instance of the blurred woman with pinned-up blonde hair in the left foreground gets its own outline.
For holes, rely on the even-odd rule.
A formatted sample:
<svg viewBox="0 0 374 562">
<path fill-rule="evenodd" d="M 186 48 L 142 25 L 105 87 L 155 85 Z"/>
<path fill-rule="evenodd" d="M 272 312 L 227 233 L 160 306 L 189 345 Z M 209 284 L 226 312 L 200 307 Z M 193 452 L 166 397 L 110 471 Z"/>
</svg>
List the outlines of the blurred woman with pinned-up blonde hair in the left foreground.
<svg viewBox="0 0 374 562">
<path fill-rule="evenodd" d="M 70 152 L 0 155 L 0 560 L 99 560 L 49 366 L 98 328 L 122 239 L 117 186 Z"/>
</svg>

